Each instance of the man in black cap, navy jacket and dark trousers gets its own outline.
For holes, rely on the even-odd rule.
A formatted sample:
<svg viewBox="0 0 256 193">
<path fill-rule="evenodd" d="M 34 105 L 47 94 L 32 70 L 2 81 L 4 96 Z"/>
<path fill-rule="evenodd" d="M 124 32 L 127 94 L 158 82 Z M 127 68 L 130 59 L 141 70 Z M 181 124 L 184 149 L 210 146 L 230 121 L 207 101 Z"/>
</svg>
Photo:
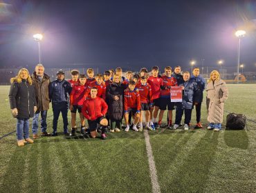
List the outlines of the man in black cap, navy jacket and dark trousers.
<svg viewBox="0 0 256 193">
<path fill-rule="evenodd" d="M 71 94 L 71 84 L 64 79 L 64 72 L 59 70 L 57 72 L 57 80 L 49 85 L 49 97 L 53 106 L 53 134 L 57 136 L 57 121 L 62 112 L 64 134 L 68 133 L 68 96 Z"/>
</svg>

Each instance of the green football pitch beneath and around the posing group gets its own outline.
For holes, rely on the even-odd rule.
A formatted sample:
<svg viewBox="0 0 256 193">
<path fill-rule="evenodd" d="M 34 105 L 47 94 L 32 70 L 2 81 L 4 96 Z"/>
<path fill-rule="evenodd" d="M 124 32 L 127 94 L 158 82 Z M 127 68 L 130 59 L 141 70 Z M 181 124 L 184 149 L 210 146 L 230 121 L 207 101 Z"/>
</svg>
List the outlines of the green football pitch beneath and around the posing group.
<svg viewBox="0 0 256 193">
<path fill-rule="evenodd" d="M 246 130 L 148 132 L 154 183 L 143 132 L 108 133 L 105 141 L 60 134 L 17 147 L 9 88 L 0 86 L 0 136 L 12 132 L 0 139 L 0 192 L 153 192 L 156 183 L 158 192 L 256 192 L 256 84 L 228 85 L 223 127 L 228 112 L 236 112 L 246 114 Z M 49 110 L 48 132 L 52 114 Z M 68 112 L 69 123 L 70 118 Z M 202 123 L 206 128 L 205 99 Z"/>
</svg>

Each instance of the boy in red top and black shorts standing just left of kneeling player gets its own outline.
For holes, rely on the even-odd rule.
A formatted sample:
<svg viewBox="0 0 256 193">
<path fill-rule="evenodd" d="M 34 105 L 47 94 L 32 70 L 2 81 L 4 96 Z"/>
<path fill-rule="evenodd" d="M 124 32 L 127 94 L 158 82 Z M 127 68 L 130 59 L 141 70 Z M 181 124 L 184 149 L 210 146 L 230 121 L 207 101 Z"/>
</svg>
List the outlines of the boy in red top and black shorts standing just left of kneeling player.
<svg viewBox="0 0 256 193">
<path fill-rule="evenodd" d="M 84 74 L 80 74 L 79 83 L 73 86 L 71 94 L 70 94 L 70 105 L 69 109 L 71 110 L 71 135 L 75 135 L 76 130 L 76 112 L 78 111 L 80 115 L 81 122 L 81 134 L 84 134 L 85 130 L 85 121 L 84 116 L 82 115 L 82 104 L 85 100 L 85 91 L 86 91 L 86 77 Z"/>
</svg>

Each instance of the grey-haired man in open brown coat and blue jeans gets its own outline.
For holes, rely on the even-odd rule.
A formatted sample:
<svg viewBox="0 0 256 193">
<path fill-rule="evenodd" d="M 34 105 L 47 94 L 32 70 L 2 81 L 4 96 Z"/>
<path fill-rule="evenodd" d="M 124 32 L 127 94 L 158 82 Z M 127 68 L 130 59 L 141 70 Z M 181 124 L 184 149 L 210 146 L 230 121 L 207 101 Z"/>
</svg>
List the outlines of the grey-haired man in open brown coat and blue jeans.
<svg viewBox="0 0 256 193">
<path fill-rule="evenodd" d="M 39 63 L 35 67 L 35 72 L 32 74 L 33 85 L 35 86 L 35 97 L 37 99 L 37 112 L 35 112 L 33 116 L 33 139 L 37 139 L 37 130 L 38 130 L 38 118 L 39 114 L 41 114 L 41 135 L 42 136 L 50 136 L 51 134 L 46 132 L 47 123 L 47 110 L 49 109 L 49 94 L 48 88 L 50 83 L 50 77 L 47 74 L 44 74 L 44 66 Z"/>
</svg>

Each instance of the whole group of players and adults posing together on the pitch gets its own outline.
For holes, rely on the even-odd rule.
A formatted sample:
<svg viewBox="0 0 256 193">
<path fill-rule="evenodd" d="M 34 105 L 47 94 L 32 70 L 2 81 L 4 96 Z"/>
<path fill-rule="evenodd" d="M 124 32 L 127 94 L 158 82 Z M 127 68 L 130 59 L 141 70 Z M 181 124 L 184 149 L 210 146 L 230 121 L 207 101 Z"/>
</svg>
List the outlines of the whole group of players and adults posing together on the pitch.
<svg viewBox="0 0 256 193">
<path fill-rule="evenodd" d="M 149 75 L 151 74 L 151 75 Z M 125 132 L 130 129 L 138 132 L 156 130 L 163 125 L 163 114 L 167 110 L 167 128 L 176 130 L 181 127 L 181 119 L 185 114 L 183 128 L 189 130 L 192 109 L 196 109 L 196 125 L 201 124 L 201 103 L 203 90 L 206 90 L 208 109 L 208 130 L 221 130 L 223 121 L 223 104 L 228 98 L 228 89 L 219 72 L 213 70 L 207 85 L 200 75 L 199 68 L 190 72 L 181 71 L 180 66 L 165 67 L 159 74 L 158 66 L 151 73 L 141 68 L 138 74 L 131 71 L 122 77 L 122 68 L 107 70 L 104 74 L 94 75 L 93 69 L 80 74 L 71 71 L 71 80 L 65 80 L 62 70 L 57 72 L 55 81 L 44 73 L 44 66 L 38 64 L 30 76 L 26 68 L 21 68 L 17 77 L 12 78 L 10 86 L 10 108 L 17 118 L 17 143 L 33 143 L 38 138 L 39 114 L 41 114 L 41 136 L 57 136 L 57 123 L 62 113 L 65 135 L 75 136 L 77 131 L 76 113 L 80 115 L 80 134 L 95 138 L 100 132 L 106 139 L 106 132 L 120 132 L 122 119 L 125 119 Z M 86 76 L 87 75 L 87 76 Z M 206 87 L 205 87 L 206 85 Z M 172 87 L 182 89 L 182 101 L 171 101 Z M 53 132 L 48 133 L 47 111 L 49 103 L 53 108 Z M 71 133 L 68 132 L 68 109 L 71 110 Z M 174 121 L 172 112 L 176 110 Z M 145 115 L 143 118 L 143 114 Z M 29 119 L 33 118 L 33 139 L 29 137 Z M 145 119 L 145 120 L 144 120 Z M 86 127 L 85 121 L 88 122 Z M 143 120 L 145 124 L 143 124 Z M 174 124 L 173 124 L 174 123 Z M 131 128 L 130 128 L 131 127 Z"/>
</svg>

